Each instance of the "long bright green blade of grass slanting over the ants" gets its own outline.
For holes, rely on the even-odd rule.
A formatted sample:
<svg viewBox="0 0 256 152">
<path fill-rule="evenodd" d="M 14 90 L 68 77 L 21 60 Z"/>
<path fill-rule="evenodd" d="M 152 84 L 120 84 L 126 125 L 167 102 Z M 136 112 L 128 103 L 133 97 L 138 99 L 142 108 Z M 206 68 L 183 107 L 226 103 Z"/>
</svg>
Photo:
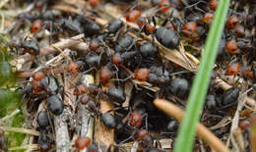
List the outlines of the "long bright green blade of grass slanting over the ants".
<svg viewBox="0 0 256 152">
<path fill-rule="evenodd" d="M 219 1 L 206 41 L 205 54 L 201 59 L 199 71 L 189 94 L 186 114 L 178 131 L 174 152 L 190 152 L 194 143 L 195 128 L 204 105 L 204 99 L 209 86 L 210 76 L 216 60 L 218 46 L 224 30 L 225 17 L 230 0 Z"/>
</svg>

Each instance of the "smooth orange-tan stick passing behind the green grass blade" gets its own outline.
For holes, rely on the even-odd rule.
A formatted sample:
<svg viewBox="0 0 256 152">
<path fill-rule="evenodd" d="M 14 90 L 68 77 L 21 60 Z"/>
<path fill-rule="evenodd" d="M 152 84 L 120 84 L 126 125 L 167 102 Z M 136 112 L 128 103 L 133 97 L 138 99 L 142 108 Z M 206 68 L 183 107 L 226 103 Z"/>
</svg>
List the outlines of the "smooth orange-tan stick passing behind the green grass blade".
<svg viewBox="0 0 256 152">
<path fill-rule="evenodd" d="M 179 122 L 182 121 L 182 118 L 185 114 L 184 111 L 172 104 L 171 102 L 163 99 L 156 99 L 154 100 L 154 104 L 168 116 L 175 118 Z M 224 146 L 224 143 L 204 125 L 198 123 L 196 127 L 196 132 L 197 135 L 209 145 L 211 145 L 214 150 L 218 152 L 230 152 L 230 150 Z"/>
</svg>

